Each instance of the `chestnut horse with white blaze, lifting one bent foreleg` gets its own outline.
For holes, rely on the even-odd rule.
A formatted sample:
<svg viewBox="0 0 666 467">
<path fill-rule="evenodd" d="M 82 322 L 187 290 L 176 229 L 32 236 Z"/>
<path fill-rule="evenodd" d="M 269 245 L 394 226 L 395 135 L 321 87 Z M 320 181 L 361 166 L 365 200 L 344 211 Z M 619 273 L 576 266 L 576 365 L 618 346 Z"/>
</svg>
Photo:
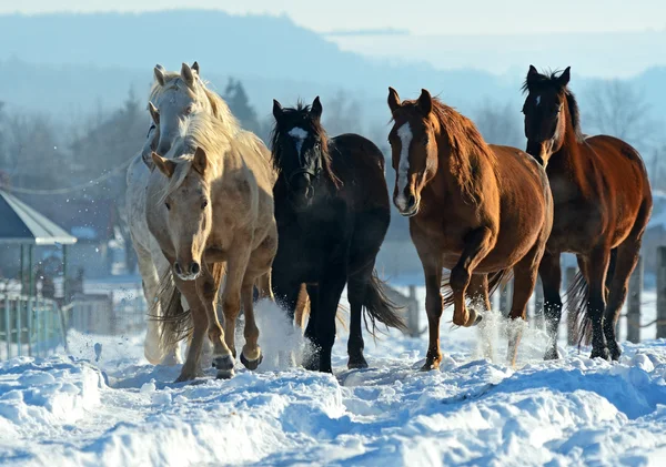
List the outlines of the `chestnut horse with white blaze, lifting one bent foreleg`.
<svg viewBox="0 0 666 467">
<path fill-rule="evenodd" d="M 454 324 L 476 324 L 480 316 L 467 309 L 465 296 L 470 290 L 487 291 L 487 274 L 496 278 L 512 268 L 509 316 L 524 319 L 551 234 L 553 202 L 546 173 L 533 158 L 515 148 L 486 144 L 471 120 L 426 90 L 417 100 L 401 102 L 389 88 L 389 106 L 394 121 L 389 135 L 396 172 L 393 201 L 410 217 L 423 264 L 430 327 L 423 369 L 432 369 L 442 361 L 443 267 L 451 270 Z M 512 326 L 512 364 L 521 329 Z"/>
</svg>

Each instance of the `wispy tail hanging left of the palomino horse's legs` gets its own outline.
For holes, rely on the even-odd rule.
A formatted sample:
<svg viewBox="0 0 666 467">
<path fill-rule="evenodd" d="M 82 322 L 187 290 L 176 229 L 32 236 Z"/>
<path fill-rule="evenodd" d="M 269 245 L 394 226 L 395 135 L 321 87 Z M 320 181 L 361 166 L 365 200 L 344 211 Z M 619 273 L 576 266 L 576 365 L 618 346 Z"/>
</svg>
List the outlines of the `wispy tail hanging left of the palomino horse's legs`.
<svg viewBox="0 0 666 467">
<path fill-rule="evenodd" d="M 158 295 L 151 304 L 150 316 L 161 322 L 160 347 L 164 351 L 173 344 L 189 337 L 192 332 L 190 311 L 184 309 L 181 292 L 175 286 L 171 268 L 160 277 Z M 157 313 L 158 306 L 161 313 Z"/>
</svg>

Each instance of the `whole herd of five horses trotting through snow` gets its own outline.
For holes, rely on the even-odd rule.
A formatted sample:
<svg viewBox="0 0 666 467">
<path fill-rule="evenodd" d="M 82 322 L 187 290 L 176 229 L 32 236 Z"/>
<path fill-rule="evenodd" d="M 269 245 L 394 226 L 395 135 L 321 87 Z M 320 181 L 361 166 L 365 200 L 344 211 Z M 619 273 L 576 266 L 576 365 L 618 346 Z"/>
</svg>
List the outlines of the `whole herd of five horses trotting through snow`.
<svg viewBox="0 0 666 467">
<path fill-rule="evenodd" d="M 593 357 L 619 357 L 615 323 L 652 211 L 650 187 L 630 145 L 581 132 L 568 82 L 569 68 L 542 74 L 529 67 L 527 152 L 487 144 L 470 119 L 426 90 L 401 101 L 389 89 L 393 203 L 410 217 L 425 276 L 430 343 L 423 369 L 442 359 L 443 308 L 454 305 L 456 325 L 482 323 L 490 294 L 511 274 L 508 316 L 523 321 L 541 275 L 545 358 L 558 358 L 562 252 L 575 253 L 579 264 L 569 294 L 581 338 L 592 337 Z M 242 306 L 240 359 L 256 368 L 263 358 L 256 291 L 278 301 L 295 327 L 310 314 L 312 352 L 303 364 L 331 372 L 346 285 L 349 367 L 366 367 L 362 322 L 373 331 L 376 322 L 404 328 L 374 270 L 391 204 L 377 146 L 359 134 L 330 138 L 316 98 L 295 108 L 273 101 L 269 151 L 206 88 L 196 62 L 180 72 L 155 67 L 149 109 L 153 124 L 128 172 L 132 241 L 154 316 L 147 358 L 179 363 L 179 341 L 189 337 L 178 380 L 195 378 L 208 337 L 218 377 L 231 377 Z M 224 328 L 216 313 L 222 282 Z M 522 326 L 509 326 L 512 364 L 521 334 Z M 294 363 L 292 355 L 280 358 Z"/>
</svg>

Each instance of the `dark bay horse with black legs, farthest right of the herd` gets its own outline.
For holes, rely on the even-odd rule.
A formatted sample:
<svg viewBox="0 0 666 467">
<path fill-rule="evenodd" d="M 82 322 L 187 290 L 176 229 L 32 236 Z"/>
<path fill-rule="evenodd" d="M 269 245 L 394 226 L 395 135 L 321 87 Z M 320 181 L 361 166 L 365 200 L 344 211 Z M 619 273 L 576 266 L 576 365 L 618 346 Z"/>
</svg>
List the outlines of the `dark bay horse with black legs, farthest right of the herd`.
<svg viewBox="0 0 666 467">
<path fill-rule="evenodd" d="M 527 152 L 546 167 L 555 202 L 553 232 L 539 266 L 549 336 L 545 358 L 558 357 L 559 255 L 571 252 L 579 266 L 577 286 L 569 290 L 579 338 L 592 334 L 593 358 L 617 361 L 622 351 L 615 325 L 652 212 L 652 190 L 634 148 L 608 135 L 583 135 L 569 79 L 571 67 L 542 74 L 529 65 L 523 85 Z"/>
</svg>

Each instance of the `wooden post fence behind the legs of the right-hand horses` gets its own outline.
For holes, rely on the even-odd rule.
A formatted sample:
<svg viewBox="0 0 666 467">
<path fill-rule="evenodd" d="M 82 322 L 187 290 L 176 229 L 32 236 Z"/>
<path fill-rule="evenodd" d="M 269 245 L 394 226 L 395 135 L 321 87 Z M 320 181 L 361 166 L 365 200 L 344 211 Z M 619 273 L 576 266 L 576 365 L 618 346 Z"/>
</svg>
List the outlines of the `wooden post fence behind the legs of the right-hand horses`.
<svg viewBox="0 0 666 467">
<path fill-rule="evenodd" d="M 567 313 L 566 306 L 566 296 L 564 296 L 564 291 L 567 291 L 569 285 L 573 284 L 575 276 L 577 273 L 576 267 L 567 267 L 563 274 L 563 322 L 566 326 L 566 336 L 569 345 L 575 345 L 574 337 L 574 325 L 573 316 Z M 656 316 L 654 318 L 647 317 L 645 308 L 647 308 L 645 300 L 645 294 L 643 293 L 644 287 L 644 268 L 643 268 L 643 258 L 638 258 L 638 264 L 636 265 L 636 270 L 629 280 L 627 300 L 625 304 L 626 312 L 620 316 L 626 318 L 625 323 L 625 335 L 626 341 L 633 343 L 639 343 L 642 338 L 642 329 L 647 327 L 656 326 L 656 335 L 653 336 L 644 336 L 648 338 L 666 338 L 666 246 L 659 246 L 657 248 L 657 284 L 656 284 Z M 420 318 L 422 316 L 421 306 L 416 298 L 416 287 L 410 286 L 408 295 L 401 294 L 392 287 L 390 288 L 389 297 L 402 306 L 405 309 L 407 316 L 407 326 L 408 326 L 408 335 L 415 337 L 423 334 L 427 327 L 425 327 L 425 323 L 421 323 Z M 498 305 L 498 309 L 502 312 L 508 312 L 511 307 L 511 301 L 513 297 L 513 281 L 509 282 L 503 291 L 496 293 L 497 297 L 492 297 L 493 307 Z M 496 300 L 497 298 L 497 300 Z M 541 280 L 537 282 L 535 287 L 535 293 L 533 296 L 534 300 L 534 313 L 529 316 L 529 322 L 532 326 L 536 326 L 539 329 L 544 327 L 544 296 Z M 498 302 L 498 303 L 496 303 Z M 649 304 L 654 306 L 655 304 Z M 620 321 L 618 321 L 619 327 Z M 618 335 L 619 335 L 618 328 Z"/>
</svg>

